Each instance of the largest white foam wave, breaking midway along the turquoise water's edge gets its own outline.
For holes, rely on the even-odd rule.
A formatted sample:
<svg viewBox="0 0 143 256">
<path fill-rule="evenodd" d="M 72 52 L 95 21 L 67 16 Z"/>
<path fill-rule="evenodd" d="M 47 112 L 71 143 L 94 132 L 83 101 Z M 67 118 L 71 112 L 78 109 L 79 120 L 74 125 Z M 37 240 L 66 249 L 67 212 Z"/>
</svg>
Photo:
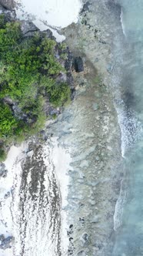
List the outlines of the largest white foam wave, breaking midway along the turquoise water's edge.
<svg viewBox="0 0 143 256">
<path fill-rule="evenodd" d="M 125 106 L 124 99 L 121 96 L 121 86 L 124 60 L 122 56 L 116 60 L 117 69 L 111 77 L 111 89 L 114 95 L 114 105 L 118 115 L 118 124 L 121 130 L 121 156 L 125 157 L 127 150 L 138 141 L 143 134 L 142 123 L 138 120 L 138 116 L 131 108 Z M 120 65 L 118 64 L 120 62 Z"/>
</svg>

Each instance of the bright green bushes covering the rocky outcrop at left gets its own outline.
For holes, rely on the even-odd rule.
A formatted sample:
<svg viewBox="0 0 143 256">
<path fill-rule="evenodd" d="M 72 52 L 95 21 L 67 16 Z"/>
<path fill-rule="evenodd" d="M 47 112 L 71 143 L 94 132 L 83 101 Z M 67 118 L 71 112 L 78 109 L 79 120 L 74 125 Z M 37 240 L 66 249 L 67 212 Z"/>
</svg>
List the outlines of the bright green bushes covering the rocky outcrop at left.
<svg viewBox="0 0 143 256">
<path fill-rule="evenodd" d="M 20 22 L 8 22 L 0 15 L 0 140 L 6 143 L 13 137 L 20 140 L 38 132 L 45 123 L 45 97 L 57 107 L 70 99 L 66 83 L 56 83 L 65 72 L 55 58 L 59 47 L 66 57 L 66 45 L 56 45 L 45 33 L 22 35 Z M 7 99 L 7 100 L 6 100 Z M 11 102 L 11 103 L 10 103 Z M 12 106 L 16 106 L 15 113 Z M 0 146 L 0 158 L 5 158 Z"/>
</svg>

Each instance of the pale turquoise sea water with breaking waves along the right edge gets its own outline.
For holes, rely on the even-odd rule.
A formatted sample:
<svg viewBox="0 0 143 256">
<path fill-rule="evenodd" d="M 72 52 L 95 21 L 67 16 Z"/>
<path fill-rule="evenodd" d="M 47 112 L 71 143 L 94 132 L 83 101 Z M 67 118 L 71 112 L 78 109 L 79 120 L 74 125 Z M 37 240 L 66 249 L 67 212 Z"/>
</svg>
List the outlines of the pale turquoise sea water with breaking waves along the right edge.
<svg viewBox="0 0 143 256">
<path fill-rule="evenodd" d="M 121 227 L 116 231 L 114 256 L 143 255 L 143 2 L 120 0 L 124 39 L 121 48 L 122 153 L 125 157 L 126 194 Z M 115 49 L 116 52 L 117 49 Z M 118 45 L 119 50 L 119 45 Z"/>
</svg>

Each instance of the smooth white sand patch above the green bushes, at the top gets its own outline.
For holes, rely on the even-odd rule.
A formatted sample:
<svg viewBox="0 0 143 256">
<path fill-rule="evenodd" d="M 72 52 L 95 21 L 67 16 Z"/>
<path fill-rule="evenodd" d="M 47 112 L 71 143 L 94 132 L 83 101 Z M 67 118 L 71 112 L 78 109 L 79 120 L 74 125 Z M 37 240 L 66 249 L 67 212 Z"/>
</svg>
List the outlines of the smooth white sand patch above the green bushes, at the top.
<svg viewBox="0 0 143 256">
<path fill-rule="evenodd" d="M 81 0 L 16 0 L 18 19 L 32 19 L 38 29 L 51 29 L 57 41 L 65 39 L 57 29 L 78 22 Z M 51 28 L 52 26 L 52 28 Z"/>
</svg>

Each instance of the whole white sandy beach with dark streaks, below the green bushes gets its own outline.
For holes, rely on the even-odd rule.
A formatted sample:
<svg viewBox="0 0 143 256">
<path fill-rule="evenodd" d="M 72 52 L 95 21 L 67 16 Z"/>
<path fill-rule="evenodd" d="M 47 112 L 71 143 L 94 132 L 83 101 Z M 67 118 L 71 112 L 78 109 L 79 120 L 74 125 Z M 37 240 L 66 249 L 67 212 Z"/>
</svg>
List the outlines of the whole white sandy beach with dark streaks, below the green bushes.
<svg viewBox="0 0 143 256">
<path fill-rule="evenodd" d="M 56 138 L 43 146 L 32 139 L 9 150 L 7 177 L 1 178 L 0 227 L 5 238 L 15 239 L 3 256 L 67 254 L 70 161 Z"/>
</svg>

